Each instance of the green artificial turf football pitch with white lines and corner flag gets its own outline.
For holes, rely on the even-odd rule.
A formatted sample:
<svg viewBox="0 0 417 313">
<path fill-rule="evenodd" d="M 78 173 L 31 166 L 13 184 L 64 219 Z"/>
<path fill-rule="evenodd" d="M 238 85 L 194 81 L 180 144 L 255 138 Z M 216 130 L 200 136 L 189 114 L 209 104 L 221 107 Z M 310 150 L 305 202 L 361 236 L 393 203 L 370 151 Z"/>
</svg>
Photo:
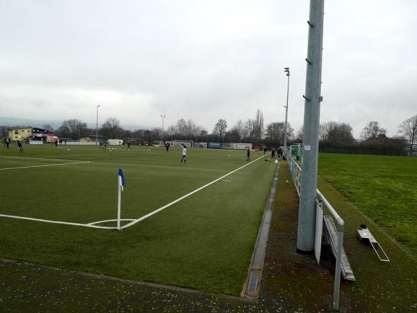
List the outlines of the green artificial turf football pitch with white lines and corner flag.
<svg viewBox="0 0 417 313">
<path fill-rule="evenodd" d="M 0 214 L 82 224 L 116 218 L 118 168 L 122 218 L 136 219 L 247 163 L 241 150 L 188 149 L 183 165 L 179 149 L 160 147 L 25 145 L 0 155 Z M 266 158 L 120 232 L 0 217 L 0 257 L 238 295 L 276 166 Z"/>
</svg>

